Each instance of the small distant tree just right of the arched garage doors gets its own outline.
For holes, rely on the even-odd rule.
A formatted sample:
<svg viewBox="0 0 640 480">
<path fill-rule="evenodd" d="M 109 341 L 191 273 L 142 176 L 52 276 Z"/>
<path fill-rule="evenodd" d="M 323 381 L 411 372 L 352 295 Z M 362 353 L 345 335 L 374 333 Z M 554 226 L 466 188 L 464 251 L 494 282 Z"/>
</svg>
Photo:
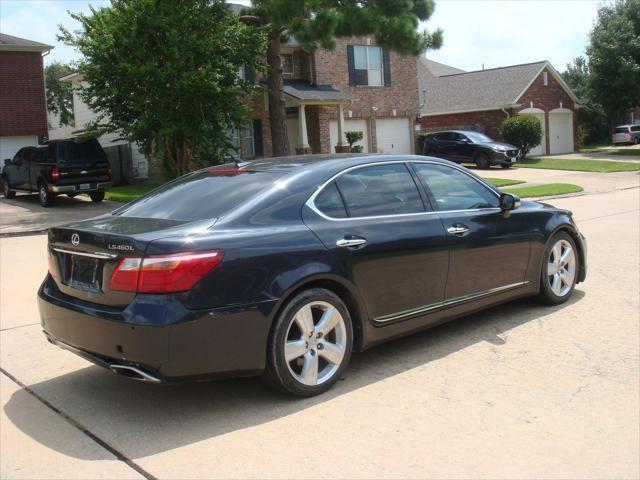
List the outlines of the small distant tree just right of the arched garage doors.
<svg viewBox="0 0 640 480">
<path fill-rule="evenodd" d="M 595 143 L 607 138 L 609 129 L 607 115 L 593 98 L 591 90 L 591 71 L 584 57 L 576 57 L 562 73 L 562 78 L 571 87 L 580 100 L 581 107 L 576 112 L 578 131 L 586 143 Z"/>
</svg>

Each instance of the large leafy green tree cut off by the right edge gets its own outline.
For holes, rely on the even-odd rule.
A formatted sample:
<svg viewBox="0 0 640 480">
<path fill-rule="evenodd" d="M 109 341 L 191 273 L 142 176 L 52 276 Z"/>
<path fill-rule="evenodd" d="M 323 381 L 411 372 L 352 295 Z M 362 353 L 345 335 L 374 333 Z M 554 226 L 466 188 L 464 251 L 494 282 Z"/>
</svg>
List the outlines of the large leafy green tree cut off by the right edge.
<svg viewBox="0 0 640 480">
<path fill-rule="evenodd" d="M 598 10 L 587 56 L 589 88 L 612 127 L 640 105 L 640 0 L 617 0 Z"/>
</svg>

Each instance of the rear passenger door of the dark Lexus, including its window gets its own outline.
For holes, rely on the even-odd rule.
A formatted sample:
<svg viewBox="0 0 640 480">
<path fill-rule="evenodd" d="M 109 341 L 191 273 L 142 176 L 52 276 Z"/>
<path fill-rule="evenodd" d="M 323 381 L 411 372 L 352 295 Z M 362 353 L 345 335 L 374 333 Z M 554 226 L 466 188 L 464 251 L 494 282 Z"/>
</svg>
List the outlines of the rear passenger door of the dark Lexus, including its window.
<svg viewBox="0 0 640 480">
<path fill-rule="evenodd" d="M 303 219 L 328 249 L 333 273 L 357 287 L 369 318 L 394 321 L 442 303 L 445 232 L 404 163 L 346 172 L 312 197 Z"/>
</svg>

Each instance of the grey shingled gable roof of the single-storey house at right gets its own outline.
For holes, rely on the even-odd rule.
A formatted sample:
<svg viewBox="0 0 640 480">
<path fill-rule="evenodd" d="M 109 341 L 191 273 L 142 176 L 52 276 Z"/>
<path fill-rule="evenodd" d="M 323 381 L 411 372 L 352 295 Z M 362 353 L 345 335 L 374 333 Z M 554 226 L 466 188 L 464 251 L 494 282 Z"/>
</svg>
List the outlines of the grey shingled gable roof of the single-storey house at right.
<svg viewBox="0 0 640 480">
<path fill-rule="evenodd" d="M 423 115 L 462 113 L 510 108 L 531 86 L 544 68 L 555 77 L 574 102 L 578 98 L 546 60 L 508 67 L 489 68 L 474 72 L 452 73 L 435 76 L 419 75 L 425 91 Z"/>
</svg>

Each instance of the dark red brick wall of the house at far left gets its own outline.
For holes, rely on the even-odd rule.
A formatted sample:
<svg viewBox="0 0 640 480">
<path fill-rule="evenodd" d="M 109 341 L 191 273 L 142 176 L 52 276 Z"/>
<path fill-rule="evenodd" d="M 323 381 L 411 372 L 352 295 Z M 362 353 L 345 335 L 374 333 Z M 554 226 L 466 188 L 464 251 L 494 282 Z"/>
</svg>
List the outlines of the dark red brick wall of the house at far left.
<svg viewBox="0 0 640 480">
<path fill-rule="evenodd" d="M 47 135 L 40 52 L 0 53 L 0 136 Z"/>
</svg>

